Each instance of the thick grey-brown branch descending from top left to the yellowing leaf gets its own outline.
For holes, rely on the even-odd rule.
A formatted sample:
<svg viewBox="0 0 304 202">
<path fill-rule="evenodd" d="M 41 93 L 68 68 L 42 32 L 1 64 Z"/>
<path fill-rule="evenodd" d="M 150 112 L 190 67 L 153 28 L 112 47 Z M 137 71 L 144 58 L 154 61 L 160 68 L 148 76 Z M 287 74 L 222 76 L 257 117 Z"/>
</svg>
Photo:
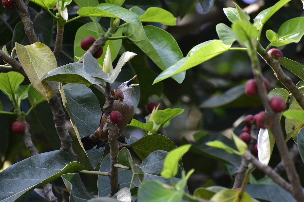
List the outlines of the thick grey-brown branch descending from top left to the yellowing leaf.
<svg viewBox="0 0 304 202">
<path fill-rule="evenodd" d="M 37 35 L 35 34 L 33 21 L 29 16 L 29 9 L 23 0 L 16 0 L 16 4 L 18 6 L 18 11 L 20 18 L 23 22 L 24 31 L 26 33 L 27 38 L 29 38 L 30 43 L 35 43 L 38 41 Z"/>
</svg>

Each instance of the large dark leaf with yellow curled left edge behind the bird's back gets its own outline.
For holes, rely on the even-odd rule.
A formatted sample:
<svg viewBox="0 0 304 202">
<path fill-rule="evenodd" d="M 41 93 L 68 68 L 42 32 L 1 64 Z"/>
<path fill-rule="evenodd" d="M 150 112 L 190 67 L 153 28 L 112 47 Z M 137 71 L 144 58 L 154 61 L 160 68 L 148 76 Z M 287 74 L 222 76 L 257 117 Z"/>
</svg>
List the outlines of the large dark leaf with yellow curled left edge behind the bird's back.
<svg viewBox="0 0 304 202">
<path fill-rule="evenodd" d="M 64 108 L 70 116 L 79 144 L 81 138 L 94 133 L 100 123 L 101 108 L 95 94 L 85 84 L 66 84 L 61 86 Z M 82 146 L 83 147 L 83 146 Z M 85 150 L 92 167 L 95 168 L 102 159 L 104 147 Z"/>
</svg>

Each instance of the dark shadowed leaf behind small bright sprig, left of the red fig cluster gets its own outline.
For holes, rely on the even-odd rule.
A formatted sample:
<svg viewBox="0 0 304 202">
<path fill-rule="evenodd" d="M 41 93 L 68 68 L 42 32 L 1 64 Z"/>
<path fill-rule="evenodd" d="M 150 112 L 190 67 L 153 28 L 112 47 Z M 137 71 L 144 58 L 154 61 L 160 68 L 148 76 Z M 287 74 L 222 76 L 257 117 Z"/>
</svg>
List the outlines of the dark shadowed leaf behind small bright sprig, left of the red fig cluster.
<svg viewBox="0 0 304 202">
<path fill-rule="evenodd" d="M 234 150 L 237 150 L 234 142 L 227 138 L 226 136 L 219 134 L 219 133 L 209 133 L 206 134 L 204 132 L 199 132 L 194 134 L 200 135 L 202 133 L 201 138 L 199 141 L 197 141 L 195 144 L 193 144 L 192 148 L 190 151 L 194 152 L 195 154 L 201 154 L 205 155 L 207 157 L 211 157 L 214 159 L 217 159 L 219 161 L 229 163 L 233 165 L 234 167 L 239 167 L 241 163 L 241 157 L 237 154 L 229 154 L 223 149 L 218 149 L 216 147 L 209 147 L 206 145 L 206 142 L 209 141 L 221 141 L 227 146 L 233 148 Z"/>
</svg>

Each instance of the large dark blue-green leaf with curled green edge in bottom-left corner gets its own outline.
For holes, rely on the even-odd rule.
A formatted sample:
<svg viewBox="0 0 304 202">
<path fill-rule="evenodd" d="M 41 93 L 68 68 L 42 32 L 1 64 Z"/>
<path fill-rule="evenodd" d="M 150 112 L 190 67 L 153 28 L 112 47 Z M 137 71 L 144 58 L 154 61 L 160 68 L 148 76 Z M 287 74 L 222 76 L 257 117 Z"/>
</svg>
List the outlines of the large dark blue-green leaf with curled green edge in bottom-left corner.
<svg viewBox="0 0 304 202">
<path fill-rule="evenodd" d="M 0 173 L 0 200 L 15 201 L 36 187 L 62 174 L 81 171 L 84 167 L 65 151 L 50 151 L 11 165 Z"/>
</svg>

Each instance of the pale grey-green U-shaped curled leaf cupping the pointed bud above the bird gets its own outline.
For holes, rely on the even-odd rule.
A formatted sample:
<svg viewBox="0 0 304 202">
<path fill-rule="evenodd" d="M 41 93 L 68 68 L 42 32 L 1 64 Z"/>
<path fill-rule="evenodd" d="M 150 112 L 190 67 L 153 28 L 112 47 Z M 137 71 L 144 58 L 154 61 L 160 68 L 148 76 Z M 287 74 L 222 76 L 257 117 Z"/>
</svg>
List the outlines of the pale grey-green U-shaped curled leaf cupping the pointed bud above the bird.
<svg viewBox="0 0 304 202">
<path fill-rule="evenodd" d="M 102 69 L 99 67 L 98 62 L 96 59 L 91 55 L 90 53 L 86 53 L 83 61 L 83 68 L 85 69 L 85 72 L 92 76 L 97 77 L 100 79 L 105 80 L 106 82 L 113 83 L 115 79 L 117 78 L 119 72 L 121 71 L 121 68 L 123 65 L 126 64 L 127 61 L 129 61 L 131 58 L 133 58 L 136 54 L 133 52 L 126 51 L 123 53 L 123 55 L 120 56 L 116 67 L 113 69 L 113 71 L 109 73 L 105 73 L 102 71 Z"/>
</svg>

